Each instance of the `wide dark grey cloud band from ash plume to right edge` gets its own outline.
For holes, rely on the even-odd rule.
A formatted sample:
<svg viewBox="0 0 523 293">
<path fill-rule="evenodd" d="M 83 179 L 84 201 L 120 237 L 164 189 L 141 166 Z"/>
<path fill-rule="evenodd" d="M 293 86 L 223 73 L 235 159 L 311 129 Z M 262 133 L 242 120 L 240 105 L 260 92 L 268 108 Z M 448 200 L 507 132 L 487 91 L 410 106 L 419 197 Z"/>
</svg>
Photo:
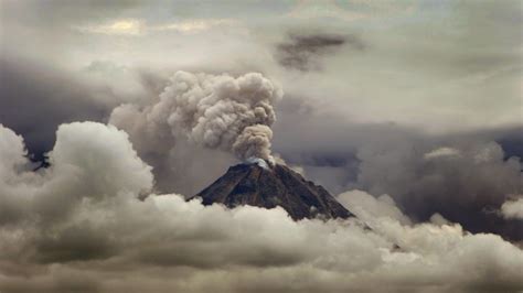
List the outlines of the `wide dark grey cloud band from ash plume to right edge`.
<svg viewBox="0 0 523 293">
<path fill-rule="evenodd" d="M 519 141 L 521 128 L 435 135 L 291 108 L 282 107 L 275 124 L 275 151 L 332 193 L 388 194 L 414 220 L 439 213 L 474 232 L 522 239 L 521 220 L 492 213 L 523 193 L 521 153 L 508 143 Z"/>
</svg>

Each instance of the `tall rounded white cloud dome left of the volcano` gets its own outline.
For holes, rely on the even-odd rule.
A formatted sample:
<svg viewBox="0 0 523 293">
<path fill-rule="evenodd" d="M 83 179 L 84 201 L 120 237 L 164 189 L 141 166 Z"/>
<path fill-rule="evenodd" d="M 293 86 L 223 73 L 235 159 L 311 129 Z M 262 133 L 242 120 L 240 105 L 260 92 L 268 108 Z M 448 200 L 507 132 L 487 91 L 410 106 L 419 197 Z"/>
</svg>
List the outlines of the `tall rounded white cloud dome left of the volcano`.
<svg viewBox="0 0 523 293">
<path fill-rule="evenodd" d="M 152 188 L 151 167 L 138 158 L 127 133 L 113 126 L 60 126 L 50 162 L 50 173 L 81 177 L 77 181 L 86 183 L 90 196 L 138 194 Z"/>
</svg>

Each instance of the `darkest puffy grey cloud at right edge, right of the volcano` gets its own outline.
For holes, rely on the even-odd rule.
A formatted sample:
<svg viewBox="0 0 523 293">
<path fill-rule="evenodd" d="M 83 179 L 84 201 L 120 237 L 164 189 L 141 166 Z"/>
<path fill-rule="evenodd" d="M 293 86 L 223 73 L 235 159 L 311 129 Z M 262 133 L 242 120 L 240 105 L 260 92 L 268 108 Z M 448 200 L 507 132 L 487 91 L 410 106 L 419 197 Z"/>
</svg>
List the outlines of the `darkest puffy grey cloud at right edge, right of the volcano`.
<svg viewBox="0 0 523 293">
<path fill-rule="evenodd" d="M 416 220 L 439 213 L 472 231 L 521 239 L 520 224 L 500 224 L 498 215 L 489 213 L 523 188 L 521 160 L 505 159 L 498 143 L 457 143 L 437 150 L 409 143 L 383 148 L 388 146 L 359 151 L 360 188 L 376 196 L 391 195 Z"/>
</svg>

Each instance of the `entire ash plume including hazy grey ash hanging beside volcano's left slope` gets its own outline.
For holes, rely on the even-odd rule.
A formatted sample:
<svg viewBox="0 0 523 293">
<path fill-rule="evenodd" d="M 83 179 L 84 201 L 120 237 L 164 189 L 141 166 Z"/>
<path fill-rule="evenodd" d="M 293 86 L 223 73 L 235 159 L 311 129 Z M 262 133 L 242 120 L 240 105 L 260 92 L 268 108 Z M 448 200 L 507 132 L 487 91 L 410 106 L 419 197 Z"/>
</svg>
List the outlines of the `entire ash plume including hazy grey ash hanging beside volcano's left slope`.
<svg viewBox="0 0 523 293">
<path fill-rule="evenodd" d="M 109 122 L 127 131 L 154 166 L 160 191 L 198 193 L 236 160 L 271 160 L 275 104 L 282 91 L 257 73 L 177 72 L 159 97 L 115 108 Z M 182 177 L 183 176 L 183 177 Z"/>
</svg>

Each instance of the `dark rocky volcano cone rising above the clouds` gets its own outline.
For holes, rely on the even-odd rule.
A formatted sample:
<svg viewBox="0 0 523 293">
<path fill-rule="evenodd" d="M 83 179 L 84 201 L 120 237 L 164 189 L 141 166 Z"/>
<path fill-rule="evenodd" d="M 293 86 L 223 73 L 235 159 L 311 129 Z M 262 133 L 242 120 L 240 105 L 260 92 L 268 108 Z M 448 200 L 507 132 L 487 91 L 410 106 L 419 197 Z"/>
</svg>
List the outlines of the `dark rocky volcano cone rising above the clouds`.
<svg viewBox="0 0 523 293">
<path fill-rule="evenodd" d="M 189 200 L 195 197 L 201 197 L 203 205 L 218 203 L 230 208 L 280 206 L 295 220 L 353 216 L 322 186 L 305 180 L 285 165 L 269 165 L 260 159 L 231 166 L 223 176 Z"/>
</svg>

